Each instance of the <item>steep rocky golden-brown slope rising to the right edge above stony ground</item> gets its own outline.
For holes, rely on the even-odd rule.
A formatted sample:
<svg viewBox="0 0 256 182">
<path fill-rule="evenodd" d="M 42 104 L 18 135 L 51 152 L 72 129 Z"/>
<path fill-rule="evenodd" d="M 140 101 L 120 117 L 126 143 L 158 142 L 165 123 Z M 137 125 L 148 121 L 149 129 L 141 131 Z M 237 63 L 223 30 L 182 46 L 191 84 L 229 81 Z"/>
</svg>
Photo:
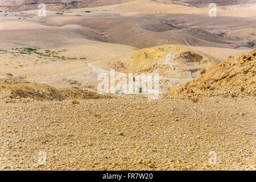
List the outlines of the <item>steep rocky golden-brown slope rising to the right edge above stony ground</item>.
<svg viewBox="0 0 256 182">
<path fill-rule="evenodd" d="M 171 88 L 174 96 L 256 96 L 256 49 L 229 56 L 223 63 L 201 70 L 201 76 Z"/>
</svg>

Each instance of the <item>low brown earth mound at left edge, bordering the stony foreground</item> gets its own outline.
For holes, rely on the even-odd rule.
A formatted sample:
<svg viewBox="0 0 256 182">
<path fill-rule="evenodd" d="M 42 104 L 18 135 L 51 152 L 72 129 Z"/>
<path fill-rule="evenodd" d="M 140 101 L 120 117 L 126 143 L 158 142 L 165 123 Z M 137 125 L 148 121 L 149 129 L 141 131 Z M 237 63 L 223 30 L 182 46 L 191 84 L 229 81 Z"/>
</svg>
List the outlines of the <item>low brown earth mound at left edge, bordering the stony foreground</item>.
<svg viewBox="0 0 256 182">
<path fill-rule="evenodd" d="M 1 98 L 22 99 L 32 98 L 36 100 L 65 100 L 65 99 L 98 99 L 107 96 L 100 95 L 80 88 L 54 88 L 49 85 L 35 84 L 12 79 L 0 79 Z M 10 101 L 10 100 L 9 100 Z"/>
</svg>

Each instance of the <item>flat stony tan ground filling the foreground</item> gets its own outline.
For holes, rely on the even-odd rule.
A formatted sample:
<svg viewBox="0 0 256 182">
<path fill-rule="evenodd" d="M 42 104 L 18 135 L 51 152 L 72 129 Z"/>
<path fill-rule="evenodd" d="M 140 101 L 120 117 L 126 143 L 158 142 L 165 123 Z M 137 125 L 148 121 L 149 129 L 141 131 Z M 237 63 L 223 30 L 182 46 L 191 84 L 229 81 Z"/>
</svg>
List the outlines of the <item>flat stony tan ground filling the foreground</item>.
<svg viewBox="0 0 256 182">
<path fill-rule="evenodd" d="M 2 100 L 0 168 L 255 170 L 255 103 L 251 96 Z"/>
</svg>

